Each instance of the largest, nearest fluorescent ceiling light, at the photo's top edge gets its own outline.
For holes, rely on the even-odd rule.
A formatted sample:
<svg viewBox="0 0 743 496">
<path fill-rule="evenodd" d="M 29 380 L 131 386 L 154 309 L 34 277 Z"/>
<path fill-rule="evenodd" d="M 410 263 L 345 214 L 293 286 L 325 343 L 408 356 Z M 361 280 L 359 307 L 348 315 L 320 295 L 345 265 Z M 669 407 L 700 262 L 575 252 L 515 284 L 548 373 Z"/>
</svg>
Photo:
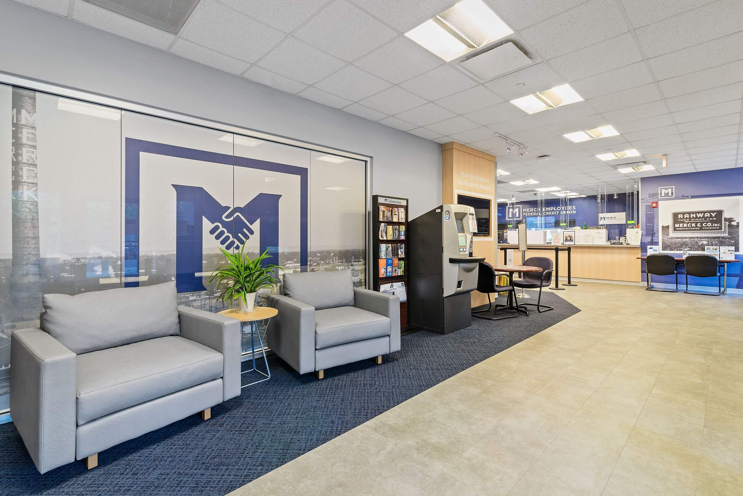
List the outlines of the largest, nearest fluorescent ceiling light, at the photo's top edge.
<svg viewBox="0 0 743 496">
<path fill-rule="evenodd" d="M 405 36 L 449 62 L 511 33 L 482 0 L 462 0 Z"/>
</svg>

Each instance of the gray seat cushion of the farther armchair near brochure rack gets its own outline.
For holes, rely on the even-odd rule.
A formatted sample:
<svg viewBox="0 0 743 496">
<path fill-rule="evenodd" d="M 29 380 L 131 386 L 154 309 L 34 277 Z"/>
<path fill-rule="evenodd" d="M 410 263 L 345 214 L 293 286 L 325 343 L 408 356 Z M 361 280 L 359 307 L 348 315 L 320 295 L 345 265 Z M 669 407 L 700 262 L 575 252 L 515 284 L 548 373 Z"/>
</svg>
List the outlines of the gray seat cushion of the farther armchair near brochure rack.
<svg viewBox="0 0 743 496">
<path fill-rule="evenodd" d="M 389 319 L 356 307 L 315 311 L 315 349 L 389 336 Z"/>
</svg>

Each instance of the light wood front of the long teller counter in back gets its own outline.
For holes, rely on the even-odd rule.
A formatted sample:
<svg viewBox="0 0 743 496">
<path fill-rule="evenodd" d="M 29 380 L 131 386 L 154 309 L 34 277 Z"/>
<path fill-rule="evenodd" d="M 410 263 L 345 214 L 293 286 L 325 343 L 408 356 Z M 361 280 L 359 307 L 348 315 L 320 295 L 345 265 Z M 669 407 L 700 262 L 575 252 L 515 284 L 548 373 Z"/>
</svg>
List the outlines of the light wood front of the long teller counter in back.
<svg viewBox="0 0 743 496">
<path fill-rule="evenodd" d="M 498 261 L 505 264 L 503 248 L 513 249 L 513 264 L 521 264 L 521 252 L 515 244 L 498 245 Z M 555 247 L 551 244 L 530 245 L 526 252 L 529 257 L 547 257 L 554 260 Z M 542 249 L 548 248 L 548 249 Z M 559 245 L 560 283 L 568 281 L 568 251 Z M 576 244 L 571 245 L 571 277 L 599 279 L 603 281 L 640 282 L 642 261 L 640 247 L 623 244 Z"/>
</svg>

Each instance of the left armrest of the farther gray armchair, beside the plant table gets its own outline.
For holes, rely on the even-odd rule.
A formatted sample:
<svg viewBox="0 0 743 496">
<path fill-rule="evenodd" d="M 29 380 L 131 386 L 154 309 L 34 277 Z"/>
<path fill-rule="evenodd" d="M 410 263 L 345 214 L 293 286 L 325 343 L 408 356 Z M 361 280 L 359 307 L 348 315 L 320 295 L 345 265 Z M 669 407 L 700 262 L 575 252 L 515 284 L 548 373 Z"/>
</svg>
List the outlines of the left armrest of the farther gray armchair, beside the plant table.
<svg viewBox="0 0 743 496">
<path fill-rule="evenodd" d="M 283 295 L 266 304 L 279 310 L 266 333 L 268 347 L 299 373 L 315 370 L 315 307 Z"/>
</svg>

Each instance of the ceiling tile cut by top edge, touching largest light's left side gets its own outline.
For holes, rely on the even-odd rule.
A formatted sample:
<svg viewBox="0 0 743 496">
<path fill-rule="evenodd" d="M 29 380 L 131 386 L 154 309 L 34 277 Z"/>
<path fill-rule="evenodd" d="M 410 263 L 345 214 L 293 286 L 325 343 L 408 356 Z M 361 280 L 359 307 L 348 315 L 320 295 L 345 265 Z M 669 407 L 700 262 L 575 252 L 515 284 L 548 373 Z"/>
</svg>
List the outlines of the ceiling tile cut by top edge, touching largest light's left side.
<svg viewBox="0 0 743 496">
<path fill-rule="evenodd" d="M 452 0 L 354 0 L 369 13 L 405 33 L 451 7 Z"/>
</svg>

